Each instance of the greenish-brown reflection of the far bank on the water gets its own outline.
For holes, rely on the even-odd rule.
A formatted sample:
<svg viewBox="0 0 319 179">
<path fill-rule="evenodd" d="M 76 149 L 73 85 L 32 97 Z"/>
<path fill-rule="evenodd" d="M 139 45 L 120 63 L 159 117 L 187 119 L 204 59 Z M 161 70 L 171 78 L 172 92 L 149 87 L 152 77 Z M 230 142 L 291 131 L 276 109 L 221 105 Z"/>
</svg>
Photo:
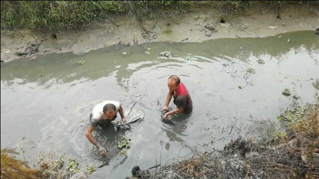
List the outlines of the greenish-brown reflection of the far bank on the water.
<svg viewBox="0 0 319 179">
<path fill-rule="evenodd" d="M 289 43 L 288 39 L 291 39 Z M 173 64 L 160 67 L 181 67 L 177 63 L 185 63 L 184 56 L 191 56 L 190 61 L 196 59 L 197 62 L 239 59 L 246 63 L 251 62 L 249 57 L 252 56 L 260 59 L 261 56 L 269 55 L 272 58 L 282 59 L 289 51 L 296 54 L 306 51 L 313 56 L 314 53 L 317 53 L 316 49 L 319 48 L 319 37 L 314 35 L 313 31 L 300 31 L 266 38 L 216 39 L 203 43 L 179 43 L 178 50 L 175 48 L 176 43 L 145 45 L 152 48 L 150 56 L 142 53 L 143 46 L 128 48 L 112 46 L 89 52 L 83 56 L 75 56 L 71 53 L 49 54 L 32 61 L 19 59 L 6 64 L 1 63 L 1 81 L 12 81 L 18 78 L 23 80 L 21 84 L 37 82 L 38 85 L 45 85 L 49 83 L 47 86 L 50 87 L 52 83 L 69 83 L 82 78 L 94 81 L 115 72 L 117 82 L 123 83 L 134 72 L 165 61 Z M 120 50 L 115 50 L 116 48 Z M 174 57 L 170 60 L 159 57 L 158 54 L 163 49 L 171 49 Z M 122 51 L 129 51 L 128 55 L 122 55 Z M 79 65 L 78 61 L 85 61 L 86 64 Z"/>
</svg>

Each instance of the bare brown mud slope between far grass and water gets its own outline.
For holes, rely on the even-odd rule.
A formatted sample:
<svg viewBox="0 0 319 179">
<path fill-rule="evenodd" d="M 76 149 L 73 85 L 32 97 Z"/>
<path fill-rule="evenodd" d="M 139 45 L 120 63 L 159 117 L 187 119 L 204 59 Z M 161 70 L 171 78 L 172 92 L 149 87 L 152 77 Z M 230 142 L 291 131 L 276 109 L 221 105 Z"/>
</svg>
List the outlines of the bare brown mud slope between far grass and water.
<svg viewBox="0 0 319 179">
<path fill-rule="evenodd" d="M 115 44 L 146 42 L 203 42 L 216 38 L 261 38 L 280 33 L 315 30 L 319 12 L 291 5 L 280 13 L 254 8 L 245 15 L 227 18 L 216 9 L 191 9 L 183 15 L 140 23 L 120 16 L 110 23 L 85 30 L 32 32 L 1 30 L 1 62 L 39 55 L 73 52 L 81 55 Z M 314 31 L 315 32 L 315 31 Z"/>
</svg>

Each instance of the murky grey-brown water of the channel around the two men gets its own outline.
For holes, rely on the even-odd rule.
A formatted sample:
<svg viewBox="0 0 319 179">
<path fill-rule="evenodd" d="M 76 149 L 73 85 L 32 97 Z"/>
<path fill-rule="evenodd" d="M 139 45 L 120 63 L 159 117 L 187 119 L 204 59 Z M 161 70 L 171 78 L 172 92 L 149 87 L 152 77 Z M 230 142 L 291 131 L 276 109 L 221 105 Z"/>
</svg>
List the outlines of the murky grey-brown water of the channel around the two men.
<svg viewBox="0 0 319 179">
<path fill-rule="evenodd" d="M 144 54 L 144 46 L 151 55 Z M 173 57 L 161 57 L 161 51 Z M 146 169 L 192 150 L 222 149 L 238 136 L 265 138 L 265 126 L 276 127 L 271 122 L 293 100 L 281 94 L 284 88 L 300 96 L 300 104 L 314 100 L 318 60 L 319 36 L 300 31 L 200 44 L 112 46 L 83 56 L 51 54 L 1 63 L 1 148 L 18 141 L 31 162 L 42 154 L 66 153 L 78 159 L 80 168 L 99 165 L 103 160 L 84 135 L 90 110 L 106 99 L 120 101 L 124 110 L 136 101 L 135 109 L 145 118 L 132 131 L 114 132 L 108 126 L 96 134 L 109 149 L 110 162 L 95 175 L 124 178 L 134 165 Z M 190 115 L 171 117 L 175 126 L 160 120 L 169 75 L 180 77 L 193 100 Z M 175 108 L 172 101 L 170 107 Z M 132 139 L 127 157 L 116 149 L 123 135 Z"/>
</svg>

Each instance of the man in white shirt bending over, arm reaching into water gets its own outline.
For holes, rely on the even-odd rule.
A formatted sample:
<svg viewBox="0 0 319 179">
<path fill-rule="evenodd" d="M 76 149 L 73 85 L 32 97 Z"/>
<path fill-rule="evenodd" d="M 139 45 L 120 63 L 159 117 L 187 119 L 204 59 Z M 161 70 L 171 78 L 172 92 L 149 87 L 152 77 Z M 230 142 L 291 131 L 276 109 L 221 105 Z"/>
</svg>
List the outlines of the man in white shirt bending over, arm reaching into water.
<svg viewBox="0 0 319 179">
<path fill-rule="evenodd" d="M 106 155 L 107 150 L 96 142 L 92 135 L 92 132 L 93 130 L 99 131 L 102 129 L 103 126 L 110 124 L 111 121 L 116 119 L 116 114 L 118 112 L 121 115 L 123 124 L 125 124 L 126 119 L 124 116 L 123 108 L 118 101 L 103 101 L 97 104 L 90 114 L 90 126 L 87 128 L 85 136 L 93 145 L 98 148 L 101 155 Z"/>
</svg>

